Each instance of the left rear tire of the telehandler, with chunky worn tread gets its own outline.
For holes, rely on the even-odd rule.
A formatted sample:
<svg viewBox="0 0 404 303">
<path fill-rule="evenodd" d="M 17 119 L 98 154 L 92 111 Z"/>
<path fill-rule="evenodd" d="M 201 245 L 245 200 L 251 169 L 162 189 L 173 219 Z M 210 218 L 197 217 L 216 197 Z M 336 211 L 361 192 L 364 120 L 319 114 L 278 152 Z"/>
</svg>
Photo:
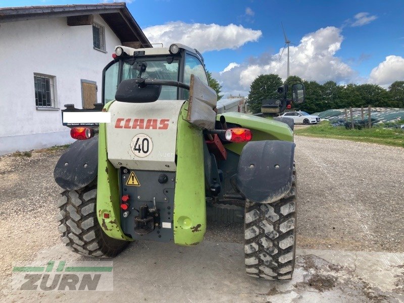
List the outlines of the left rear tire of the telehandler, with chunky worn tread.
<svg viewBox="0 0 404 303">
<path fill-rule="evenodd" d="M 96 185 L 65 190 L 58 201 L 58 227 L 62 242 L 77 254 L 87 257 L 115 257 L 129 243 L 109 237 L 96 215 Z"/>
</svg>

